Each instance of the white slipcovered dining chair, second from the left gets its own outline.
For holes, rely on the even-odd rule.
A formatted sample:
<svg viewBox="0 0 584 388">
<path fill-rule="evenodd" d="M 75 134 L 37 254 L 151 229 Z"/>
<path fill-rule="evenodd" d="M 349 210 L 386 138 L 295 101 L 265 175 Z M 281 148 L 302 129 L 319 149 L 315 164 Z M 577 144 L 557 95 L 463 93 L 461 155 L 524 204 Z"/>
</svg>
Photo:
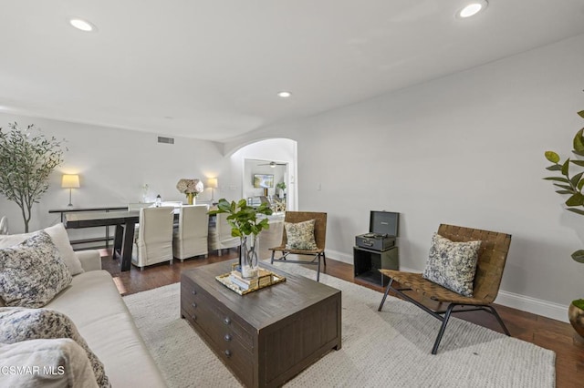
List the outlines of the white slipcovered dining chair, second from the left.
<svg viewBox="0 0 584 388">
<path fill-rule="evenodd" d="M 207 257 L 208 211 L 208 205 L 183 205 L 179 209 L 179 225 L 172 235 L 172 253 L 176 259 L 183 261 L 194 256 Z"/>
</svg>

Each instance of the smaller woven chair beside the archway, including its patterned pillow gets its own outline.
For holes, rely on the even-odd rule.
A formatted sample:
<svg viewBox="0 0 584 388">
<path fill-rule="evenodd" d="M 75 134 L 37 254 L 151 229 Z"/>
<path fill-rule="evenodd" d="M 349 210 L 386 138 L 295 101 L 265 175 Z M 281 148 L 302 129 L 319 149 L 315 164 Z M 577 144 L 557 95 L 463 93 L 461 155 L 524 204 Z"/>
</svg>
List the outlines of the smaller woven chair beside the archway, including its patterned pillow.
<svg viewBox="0 0 584 388">
<path fill-rule="evenodd" d="M 270 248 L 272 259 L 280 262 L 313 264 L 317 266 L 317 281 L 320 280 L 320 259 L 327 265 L 325 243 L 327 240 L 327 213 L 315 211 L 287 211 L 284 216 L 282 242 L 278 247 Z M 276 258 L 276 251 L 282 253 Z M 288 260 L 288 255 L 308 255 L 313 259 Z"/>
</svg>

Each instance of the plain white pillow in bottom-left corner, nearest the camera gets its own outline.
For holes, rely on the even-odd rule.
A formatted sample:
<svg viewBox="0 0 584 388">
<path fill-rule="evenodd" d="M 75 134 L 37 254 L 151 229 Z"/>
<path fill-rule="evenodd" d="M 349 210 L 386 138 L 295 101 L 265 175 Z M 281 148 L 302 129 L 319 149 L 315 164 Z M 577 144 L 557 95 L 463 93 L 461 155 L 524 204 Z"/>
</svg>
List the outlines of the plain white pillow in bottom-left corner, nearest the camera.
<svg viewBox="0 0 584 388">
<path fill-rule="evenodd" d="M 85 350 L 68 338 L 0 343 L 0 386 L 97 388 Z"/>
</svg>

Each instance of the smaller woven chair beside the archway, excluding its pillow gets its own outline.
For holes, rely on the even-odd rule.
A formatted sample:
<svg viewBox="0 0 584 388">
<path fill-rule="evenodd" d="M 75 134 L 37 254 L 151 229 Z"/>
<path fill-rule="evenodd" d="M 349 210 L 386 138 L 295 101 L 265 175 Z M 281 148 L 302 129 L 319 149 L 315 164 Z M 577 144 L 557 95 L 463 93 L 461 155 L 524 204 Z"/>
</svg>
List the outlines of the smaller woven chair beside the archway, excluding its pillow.
<svg viewBox="0 0 584 388">
<path fill-rule="evenodd" d="M 315 250 L 295 250 L 287 248 L 287 233 L 286 228 L 282 231 L 282 242 L 279 246 L 274 248 L 269 248 L 272 251 L 271 263 L 274 261 L 288 262 L 296 264 L 312 264 L 317 266 L 317 281 L 320 281 L 320 259 L 322 258 L 323 263 L 327 266 L 327 258 L 325 256 L 325 244 L 327 240 L 327 213 L 316 212 L 316 211 L 287 211 L 284 216 L 284 222 L 298 223 L 308 220 L 315 220 L 314 224 L 314 240 L 316 242 L 317 248 Z M 276 251 L 282 253 L 280 258 L 275 258 Z M 312 256 L 313 259 L 308 260 L 288 260 L 287 256 L 289 254 L 294 255 L 308 255 Z"/>
</svg>

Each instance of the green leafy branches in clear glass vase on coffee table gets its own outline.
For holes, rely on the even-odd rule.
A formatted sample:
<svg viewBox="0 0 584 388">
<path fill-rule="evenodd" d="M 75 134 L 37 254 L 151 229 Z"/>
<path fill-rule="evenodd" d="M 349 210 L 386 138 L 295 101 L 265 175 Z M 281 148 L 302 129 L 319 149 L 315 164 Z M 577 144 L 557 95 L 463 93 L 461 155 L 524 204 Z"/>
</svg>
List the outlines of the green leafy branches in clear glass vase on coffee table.
<svg viewBox="0 0 584 388">
<path fill-rule="evenodd" d="M 210 210 L 209 214 L 227 213 L 227 222 L 231 226 L 231 235 L 239 237 L 241 246 L 239 250 L 239 266 L 241 274 L 246 279 L 256 278 L 258 275 L 259 250 L 258 235 L 262 230 L 270 227 L 267 218 L 259 219 L 258 214 L 269 216 L 272 214 L 267 203 L 262 203 L 257 208 L 247 205 L 245 199 L 238 202 L 219 199 L 217 209 Z"/>
</svg>

